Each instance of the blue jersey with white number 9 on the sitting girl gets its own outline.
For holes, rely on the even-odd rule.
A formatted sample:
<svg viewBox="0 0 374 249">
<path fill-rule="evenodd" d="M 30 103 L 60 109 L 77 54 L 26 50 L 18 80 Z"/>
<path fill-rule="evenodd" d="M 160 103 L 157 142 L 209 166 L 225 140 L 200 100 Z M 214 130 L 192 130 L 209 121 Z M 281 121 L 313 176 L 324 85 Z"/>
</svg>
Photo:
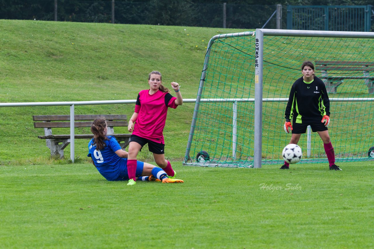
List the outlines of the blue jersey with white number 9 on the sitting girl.
<svg viewBox="0 0 374 249">
<path fill-rule="evenodd" d="M 88 155 L 92 158 L 97 170 L 108 181 L 116 180 L 121 172 L 127 172 L 127 158 L 121 158 L 116 153 L 121 146 L 113 136 L 108 136 L 105 141 L 105 147 L 102 150 L 96 150 L 96 143 L 93 138 L 88 143 Z M 127 173 L 126 173 L 127 174 Z"/>
</svg>

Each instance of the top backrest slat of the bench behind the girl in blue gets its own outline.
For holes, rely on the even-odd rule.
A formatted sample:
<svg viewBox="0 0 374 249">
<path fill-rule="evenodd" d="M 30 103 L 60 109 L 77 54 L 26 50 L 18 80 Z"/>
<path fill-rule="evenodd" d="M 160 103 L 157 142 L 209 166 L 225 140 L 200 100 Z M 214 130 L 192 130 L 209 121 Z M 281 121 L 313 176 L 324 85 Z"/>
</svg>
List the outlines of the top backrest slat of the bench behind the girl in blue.
<svg viewBox="0 0 374 249">
<path fill-rule="evenodd" d="M 107 114 L 107 115 L 74 115 L 74 120 L 95 120 L 104 117 L 107 120 L 127 120 L 127 115 Z M 33 121 L 67 121 L 70 115 L 34 115 Z"/>
</svg>

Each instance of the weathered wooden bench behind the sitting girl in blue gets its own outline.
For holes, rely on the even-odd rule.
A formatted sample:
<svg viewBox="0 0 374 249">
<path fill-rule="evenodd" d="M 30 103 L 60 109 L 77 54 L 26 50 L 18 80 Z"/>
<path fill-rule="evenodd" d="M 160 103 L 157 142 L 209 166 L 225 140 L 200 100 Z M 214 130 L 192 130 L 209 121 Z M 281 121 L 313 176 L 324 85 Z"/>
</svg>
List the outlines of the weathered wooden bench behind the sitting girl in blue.
<svg viewBox="0 0 374 249">
<path fill-rule="evenodd" d="M 74 127 L 91 127 L 93 120 L 104 117 L 107 119 L 108 135 L 114 136 L 120 143 L 122 149 L 130 143 L 131 134 L 114 134 L 114 126 L 128 126 L 126 115 L 74 115 Z M 34 127 L 44 128 L 44 136 L 51 156 L 64 157 L 64 149 L 70 144 L 70 134 L 52 134 L 52 128 L 70 128 L 70 115 L 34 115 Z M 91 139 L 93 134 L 74 134 L 74 138 Z"/>
</svg>

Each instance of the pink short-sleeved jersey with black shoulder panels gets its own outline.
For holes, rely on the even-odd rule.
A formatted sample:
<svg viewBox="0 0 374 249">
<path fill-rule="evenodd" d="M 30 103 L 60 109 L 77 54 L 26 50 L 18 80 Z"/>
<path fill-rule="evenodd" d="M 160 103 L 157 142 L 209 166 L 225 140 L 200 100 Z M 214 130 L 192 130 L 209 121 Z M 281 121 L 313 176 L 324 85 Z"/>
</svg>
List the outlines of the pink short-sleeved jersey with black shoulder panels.
<svg viewBox="0 0 374 249">
<path fill-rule="evenodd" d="M 149 90 L 142 90 L 138 94 L 135 105 L 138 118 L 135 121 L 132 134 L 156 143 L 165 144 L 162 132 L 165 127 L 168 107 L 177 108 L 177 105 L 175 105 L 175 99 L 177 98 L 160 90 L 152 95 L 148 92 Z"/>
</svg>

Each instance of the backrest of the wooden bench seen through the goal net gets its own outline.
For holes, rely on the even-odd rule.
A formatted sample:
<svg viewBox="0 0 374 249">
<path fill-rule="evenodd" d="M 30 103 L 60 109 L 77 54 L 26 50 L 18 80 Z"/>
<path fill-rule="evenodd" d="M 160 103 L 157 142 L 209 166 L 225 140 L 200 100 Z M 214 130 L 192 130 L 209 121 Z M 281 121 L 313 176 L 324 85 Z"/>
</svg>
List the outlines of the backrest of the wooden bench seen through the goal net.
<svg viewBox="0 0 374 249">
<path fill-rule="evenodd" d="M 335 60 L 316 60 L 316 70 L 350 70 L 350 71 L 373 71 L 374 62 L 363 61 L 335 61 Z"/>
</svg>

